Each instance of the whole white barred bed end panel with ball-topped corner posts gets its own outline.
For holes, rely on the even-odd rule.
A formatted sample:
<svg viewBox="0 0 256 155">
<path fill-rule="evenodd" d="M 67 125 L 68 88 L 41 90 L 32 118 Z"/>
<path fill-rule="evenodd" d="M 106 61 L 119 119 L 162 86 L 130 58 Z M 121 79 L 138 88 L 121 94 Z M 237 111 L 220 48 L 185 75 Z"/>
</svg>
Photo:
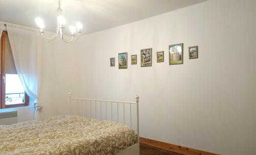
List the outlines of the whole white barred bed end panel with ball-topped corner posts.
<svg viewBox="0 0 256 155">
<path fill-rule="evenodd" d="M 139 96 L 135 102 L 74 98 L 68 93 L 70 114 L 109 120 L 130 126 L 137 131 L 139 144 Z M 135 117 L 136 116 L 136 117 Z"/>
</svg>

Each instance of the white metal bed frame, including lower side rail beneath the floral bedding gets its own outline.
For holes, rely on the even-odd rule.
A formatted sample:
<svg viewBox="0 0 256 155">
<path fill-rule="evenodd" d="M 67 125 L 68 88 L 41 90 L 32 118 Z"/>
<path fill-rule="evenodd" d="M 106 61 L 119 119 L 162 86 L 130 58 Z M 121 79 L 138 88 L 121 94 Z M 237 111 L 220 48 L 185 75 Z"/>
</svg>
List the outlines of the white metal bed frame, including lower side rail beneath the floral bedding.
<svg viewBox="0 0 256 155">
<path fill-rule="evenodd" d="M 113 120 L 113 114 L 115 114 L 117 116 L 117 121 L 118 123 L 122 123 L 127 125 L 127 123 L 125 123 L 125 119 L 129 118 L 129 124 L 127 126 L 132 127 L 132 107 L 135 106 L 136 107 L 136 119 L 137 119 L 137 123 L 136 123 L 136 128 L 137 128 L 137 135 L 138 135 L 138 143 L 134 144 L 130 147 L 127 147 L 126 149 L 122 150 L 121 152 L 119 152 L 117 155 L 139 155 L 140 151 L 139 151 L 139 96 L 136 95 L 135 97 L 135 102 L 129 102 L 129 101 L 116 101 L 116 100 L 102 100 L 102 99 L 87 99 L 87 98 L 73 98 L 71 97 L 71 93 L 68 93 L 68 97 L 69 97 L 69 110 L 70 113 L 72 111 L 72 108 L 74 109 L 74 105 L 76 105 L 76 110 L 75 110 L 75 115 L 79 115 L 79 116 L 84 116 L 86 118 L 93 118 L 93 119 L 99 119 L 99 120 L 108 120 L 108 115 L 111 114 L 111 121 Z M 116 113 L 113 112 L 113 105 L 116 104 L 117 109 L 115 109 Z M 72 105 L 72 106 L 71 106 Z M 90 105 L 90 106 L 88 106 Z M 120 105 L 122 107 L 122 119 L 123 121 L 121 122 L 121 120 L 119 119 L 119 116 L 121 114 L 120 112 Z M 111 106 L 111 109 L 108 109 L 107 106 Z M 115 106 L 115 105 L 114 105 Z M 103 107 L 103 108 L 102 108 Z M 130 107 L 130 108 L 127 108 Z M 85 111 L 83 110 L 85 108 Z M 103 109 L 103 110 L 102 110 Z M 129 116 L 126 116 L 125 110 L 129 109 Z M 109 112 L 111 111 L 111 112 Z M 84 114 L 85 112 L 85 114 Z M 93 114 L 94 113 L 94 114 Z M 103 116 L 102 113 L 105 115 Z M 72 113 L 71 113 L 72 114 Z M 100 116 L 98 116 L 97 114 L 99 114 Z M 95 117 L 93 117 L 95 116 Z M 125 117 L 126 116 L 126 117 Z M 134 128 L 134 127 L 132 127 Z M 135 128 L 134 128 L 135 130 Z"/>
</svg>

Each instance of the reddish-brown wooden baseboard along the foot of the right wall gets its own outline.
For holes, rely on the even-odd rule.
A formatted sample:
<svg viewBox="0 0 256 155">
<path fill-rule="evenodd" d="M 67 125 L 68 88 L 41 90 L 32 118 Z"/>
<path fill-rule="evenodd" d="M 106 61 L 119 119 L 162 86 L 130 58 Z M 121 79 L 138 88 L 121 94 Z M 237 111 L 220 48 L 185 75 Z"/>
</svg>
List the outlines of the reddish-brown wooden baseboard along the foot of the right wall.
<svg viewBox="0 0 256 155">
<path fill-rule="evenodd" d="M 194 148 L 183 147 L 175 144 L 169 144 L 169 143 L 160 142 L 160 141 L 147 139 L 143 137 L 140 137 L 140 143 L 157 147 L 167 151 L 184 154 L 184 155 L 218 155 L 215 153 L 201 151 Z"/>
</svg>

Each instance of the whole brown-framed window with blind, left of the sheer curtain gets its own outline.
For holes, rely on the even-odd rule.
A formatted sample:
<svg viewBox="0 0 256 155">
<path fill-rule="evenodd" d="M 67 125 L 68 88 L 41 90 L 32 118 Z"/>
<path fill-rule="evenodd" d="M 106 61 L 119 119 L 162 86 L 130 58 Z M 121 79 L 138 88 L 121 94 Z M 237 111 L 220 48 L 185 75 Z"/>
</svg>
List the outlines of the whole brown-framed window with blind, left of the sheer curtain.
<svg viewBox="0 0 256 155">
<path fill-rule="evenodd" d="M 8 33 L 1 36 L 1 81 L 0 98 L 1 109 L 24 107 L 29 105 L 29 97 L 26 94 L 22 82 L 17 74 Z"/>
</svg>

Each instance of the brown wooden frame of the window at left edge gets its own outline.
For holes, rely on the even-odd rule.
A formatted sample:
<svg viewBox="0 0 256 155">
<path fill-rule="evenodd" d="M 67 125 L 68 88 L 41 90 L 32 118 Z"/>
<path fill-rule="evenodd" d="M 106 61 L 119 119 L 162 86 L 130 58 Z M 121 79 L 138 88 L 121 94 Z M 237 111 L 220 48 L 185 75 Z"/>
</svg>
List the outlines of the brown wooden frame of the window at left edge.
<svg viewBox="0 0 256 155">
<path fill-rule="evenodd" d="M 6 37 L 8 37 L 8 32 L 7 31 L 3 31 L 2 36 L 1 36 L 1 60 L 2 60 L 2 64 L 1 64 L 1 76 L 0 76 L 0 98 L 1 98 L 1 106 L 0 109 L 6 109 L 6 108 L 17 108 L 17 107 L 26 107 L 29 106 L 29 96 L 28 94 L 25 92 L 25 100 L 24 103 L 21 104 L 14 104 L 14 105 L 6 105 L 5 104 L 5 80 L 4 78 L 6 77 L 5 74 L 5 39 Z M 4 78 L 3 78 L 4 77 Z"/>
</svg>

